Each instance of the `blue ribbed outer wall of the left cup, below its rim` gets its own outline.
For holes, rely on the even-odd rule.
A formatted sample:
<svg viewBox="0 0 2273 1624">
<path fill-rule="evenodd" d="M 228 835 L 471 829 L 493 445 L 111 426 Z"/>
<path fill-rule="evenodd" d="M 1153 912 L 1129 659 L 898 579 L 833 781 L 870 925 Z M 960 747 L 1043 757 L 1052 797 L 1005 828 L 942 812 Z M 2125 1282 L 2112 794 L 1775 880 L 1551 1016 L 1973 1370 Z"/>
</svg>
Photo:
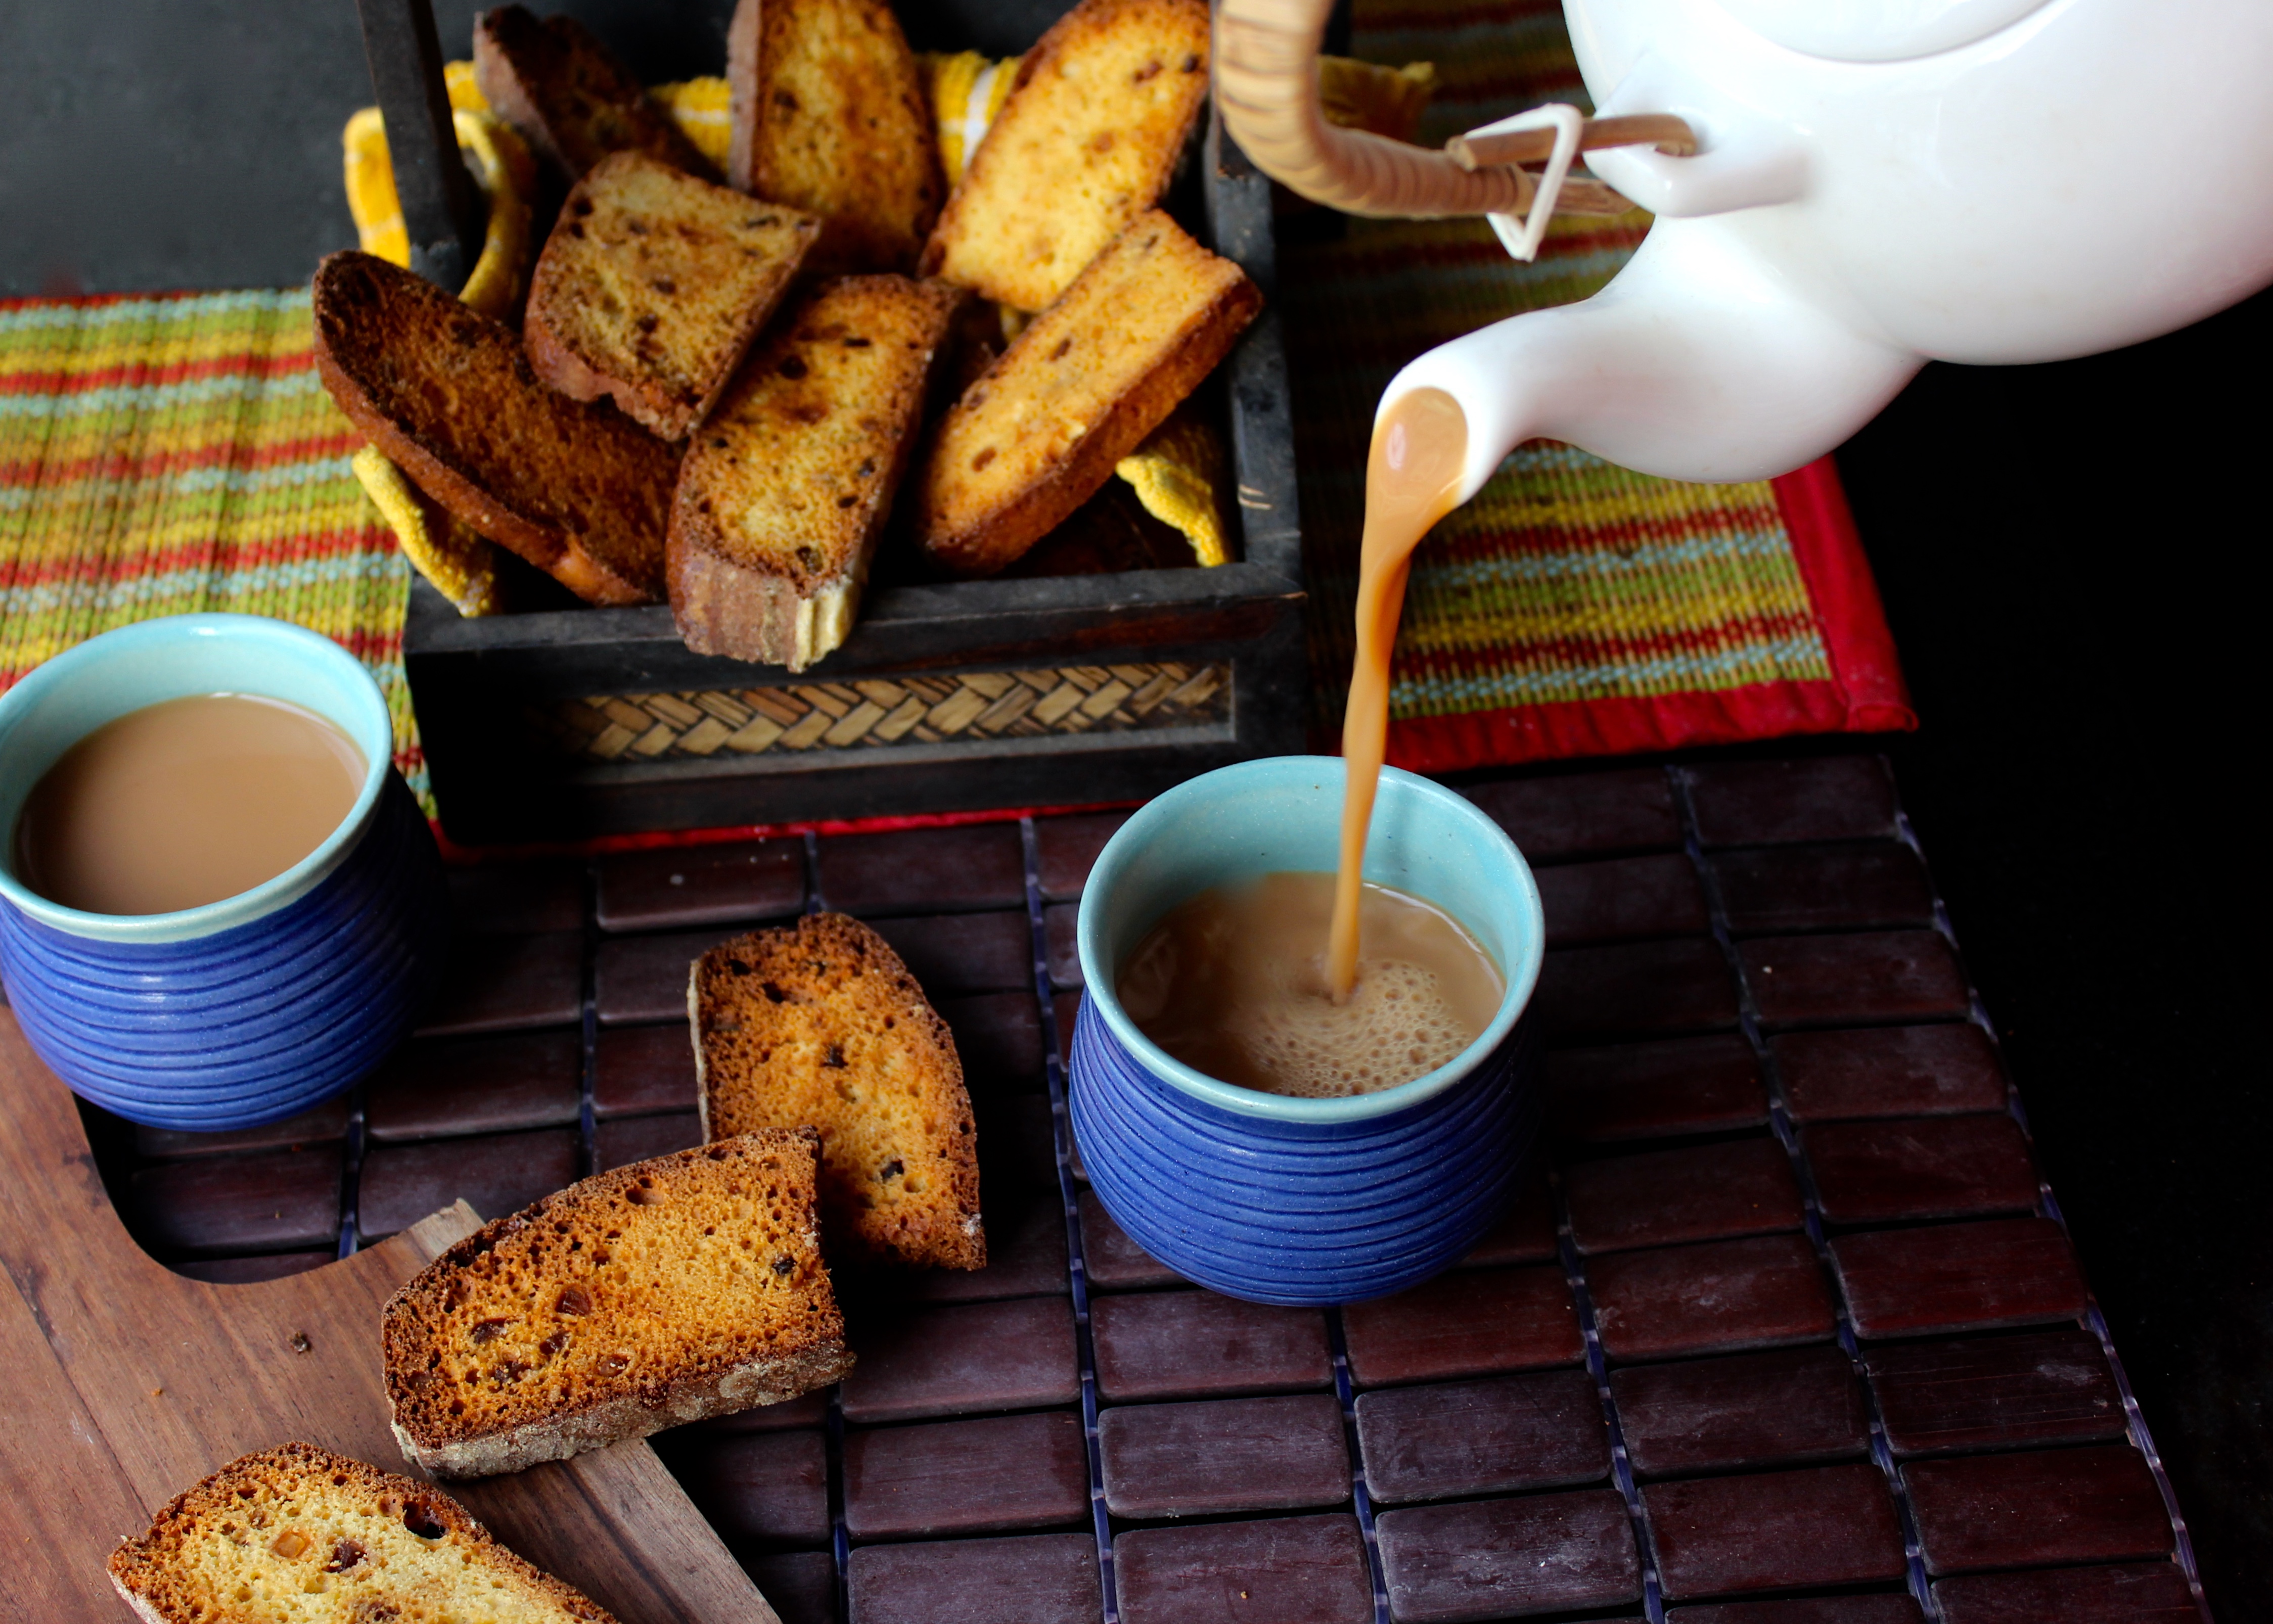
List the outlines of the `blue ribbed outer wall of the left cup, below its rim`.
<svg viewBox="0 0 2273 1624">
<path fill-rule="evenodd" d="M 191 1131 L 280 1122 L 368 1074 L 432 993 L 448 934 L 434 836 L 389 777 L 325 879 L 220 936 L 89 943 L 0 899 L 0 970 L 39 1056 L 105 1111 Z"/>
</svg>

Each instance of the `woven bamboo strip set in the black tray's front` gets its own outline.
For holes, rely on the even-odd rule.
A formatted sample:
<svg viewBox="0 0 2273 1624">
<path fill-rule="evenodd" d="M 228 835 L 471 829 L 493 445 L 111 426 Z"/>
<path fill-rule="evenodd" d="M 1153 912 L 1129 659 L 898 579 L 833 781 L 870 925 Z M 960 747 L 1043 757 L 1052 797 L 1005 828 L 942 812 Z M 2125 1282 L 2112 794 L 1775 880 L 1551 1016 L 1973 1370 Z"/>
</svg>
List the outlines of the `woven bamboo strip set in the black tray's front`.
<svg viewBox="0 0 2273 1624">
<path fill-rule="evenodd" d="M 532 706 L 584 761 L 882 750 L 1048 734 L 1200 727 L 1232 715 L 1232 668 L 1066 665 L 896 681 L 800 681 L 709 693 L 616 693 Z"/>
</svg>

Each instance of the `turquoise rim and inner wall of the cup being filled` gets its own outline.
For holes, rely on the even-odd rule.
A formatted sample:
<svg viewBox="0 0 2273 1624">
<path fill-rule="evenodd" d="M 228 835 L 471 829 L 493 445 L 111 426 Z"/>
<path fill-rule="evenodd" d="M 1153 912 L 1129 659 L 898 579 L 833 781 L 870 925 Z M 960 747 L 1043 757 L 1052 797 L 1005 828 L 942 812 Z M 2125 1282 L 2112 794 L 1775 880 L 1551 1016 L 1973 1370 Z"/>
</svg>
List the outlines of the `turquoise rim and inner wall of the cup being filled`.
<svg viewBox="0 0 2273 1624">
<path fill-rule="evenodd" d="M 1264 1095 L 1252 1088 L 1239 1088 L 1237 1083 L 1225 1083 L 1207 1072 L 1198 1072 L 1184 1065 L 1157 1043 L 1136 1029 L 1136 1022 L 1127 1018 L 1121 1008 L 1121 999 L 1114 993 L 1114 970 L 1118 965 L 1107 961 L 1102 934 L 1105 934 L 1105 909 L 1091 906 L 1114 893 L 1116 886 L 1125 884 L 1132 863 L 1166 831 L 1173 829 L 1177 820 L 1200 815 L 1225 802 L 1234 802 L 1241 795 L 1255 795 L 1264 790 L 1284 790 L 1298 784 L 1309 784 L 1314 790 L 1332 788 L 1325 797 L 1334 824 L 1341 818 L 1341 786 L 1343 786 L 1343 761 L 1341 756 L 1264 756 L 1257 761 L 1239 761 L 1227 768 L 1216 768 L 1214 772 L 1202 772 L 1196 779 L 1177 784 L 1150 802 L 1146 802 L 1118 831 L 1105 843 L 1098 854 L 1096 865 L 1089 870 L 1089 881 L 1082 886 L 1082 906 L 1075 924 L 1075 940 L 1082 959 L 1082 986 L 1089 993 L 1091 1006 L 1105 1018 L 1114 1038 L 1123 1049 L 1152 1077 L 1166 1081 L 1168 1086 L 1182 1090 L 1184 1095 L 1200 1099 L 1218 1111 L 1230 1111 L 1243 1117 L 1259 1117 L 1266 1122 L 1302 1124 L 1302 1127 L 1339 1127 L 1348 1122 L 1373 1122 L 1377 1117 L 1396 1115 L 1412 1106 L 1434 1099 L 1446 1088 L 1468 1077 L 1477 1065 L 1482 1065 L 1516 1029 L 1523 1011 L 1530 1006 L 1532 990 L 1539 986 L 1539 968 L 1546 961 L 1546 911 L 1539 902 L 1539 884 L 1532 879 L 1530 863 L 1523 861 L 1523 852 L 1516 843 L 1507 838 L 1482 809 L 1477 809 L 1464 795 L 1448 790 L 1446 786 L 1423 779 L 1414 772 L 1400 768 L 1382 768 L 1382 788 L 1375 795 L 1375 818 L 1373 831 L 1366 840 L 1366 879 L 1375 877 L 1377 861 L 1377 838 L 1387 822 L 1393 804 L 1409 800 L 1414 806 L 1425 809 L 1430 815 L 1450 820 L 1462 829 L 1475 847 L 1480 847 L 1489 859 L 1502 861 L 1505 884 L 1514 888 L 1516 911 L 1525 922 L 1518 934 L 1509 963 L 1500 965 L 1500 974 L 1507 979 L 1507 993 L 1500 997 L 1500 1008 L 1493 1013 L 1491 1024 L 1452 1056 L 1448 1063 L 1439 1065 L 1434 1072 L 1425 1072 L 1409 1083 L 1398 1083 L 1396 1088 L 1382 1088 L 1371 1095 L 1346 1095 L 1341 1099 L 1300 1099 L 1289 1095 Z M 1280 863 L 1277 868 L 1312 868 L 1307 863 Z M 1246 872 L 1268 872 L 1271 865 L 1243 868 Z M 1225 874 L 1232 879 L 1234 874 Z M 1141 934 L 1152 927 L 1171 906 L 1184 902 L 1184 897 L 1164 899 L 1150 918 L 1141 920 L 1132 934 Z M 1425 902 L 1437 904 L 1452 918 L 1457 918 L 1471 934 L 1480 940 L 1493 936 L 1493 931 L 1477 929 L 1473 911 L 1464 909 L 1457 897 L 1425 897 Z"/>
</svg>

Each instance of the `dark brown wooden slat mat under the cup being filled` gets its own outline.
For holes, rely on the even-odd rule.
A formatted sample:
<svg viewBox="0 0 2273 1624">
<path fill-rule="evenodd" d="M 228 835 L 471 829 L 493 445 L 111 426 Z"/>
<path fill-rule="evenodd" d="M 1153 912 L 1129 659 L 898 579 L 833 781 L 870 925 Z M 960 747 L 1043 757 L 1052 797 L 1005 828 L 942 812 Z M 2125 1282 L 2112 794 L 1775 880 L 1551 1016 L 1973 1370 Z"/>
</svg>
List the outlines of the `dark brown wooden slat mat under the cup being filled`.
<svg viewBox="0 0 2273 1624">
<path fill-rule="evenodd" d="M 286 1272 L 693 1142 L 686 956 L 848 906 L 955 1027 L 996 1261 L 841 1279 L 841 1392 L 657 1440 L 786 1624 L 2200 1617 L 1884 763 L 1464 793 L 1548 902 L 1548 1167 L 1389 1301 L 1193 1290 L 1086 1190 L 1125 813 L 464 872 L 459 986 L 350 1108 L 102 1165 L 177 1267 Z"/>
</svg>

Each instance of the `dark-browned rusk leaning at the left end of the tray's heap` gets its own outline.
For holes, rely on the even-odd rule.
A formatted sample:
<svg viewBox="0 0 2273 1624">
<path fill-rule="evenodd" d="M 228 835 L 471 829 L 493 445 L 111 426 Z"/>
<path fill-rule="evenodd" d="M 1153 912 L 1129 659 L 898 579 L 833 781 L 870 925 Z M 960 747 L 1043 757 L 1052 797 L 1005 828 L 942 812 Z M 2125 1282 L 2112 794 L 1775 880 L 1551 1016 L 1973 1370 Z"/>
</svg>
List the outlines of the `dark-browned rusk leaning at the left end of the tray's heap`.
<svg viewBox="0 0 2273 1624">
<path fill-rule="evenodd" d="M 316 372 L 411 484 L 596 604 L 664 595 L 680 457 L 546 388 L 514 329 L 384 259 L 316 268 Z"/>
</svg>

